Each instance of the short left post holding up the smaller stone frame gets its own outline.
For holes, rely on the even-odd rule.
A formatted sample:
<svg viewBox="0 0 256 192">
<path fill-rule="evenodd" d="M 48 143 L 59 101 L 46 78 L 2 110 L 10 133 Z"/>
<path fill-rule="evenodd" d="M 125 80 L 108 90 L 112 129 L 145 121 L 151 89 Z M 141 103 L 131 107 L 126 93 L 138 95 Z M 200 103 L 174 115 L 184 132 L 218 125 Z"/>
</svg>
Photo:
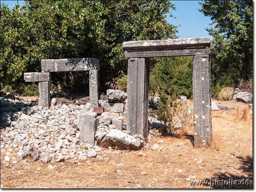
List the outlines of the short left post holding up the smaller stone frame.
<svg viewBox="0 0 256 192">
<path fill-rule="evenodd" d="M 49 107 L 50 106 L 50 81 L 43 81 L 38 83 L 39 97 L 38 106 Z"/>
</svg>

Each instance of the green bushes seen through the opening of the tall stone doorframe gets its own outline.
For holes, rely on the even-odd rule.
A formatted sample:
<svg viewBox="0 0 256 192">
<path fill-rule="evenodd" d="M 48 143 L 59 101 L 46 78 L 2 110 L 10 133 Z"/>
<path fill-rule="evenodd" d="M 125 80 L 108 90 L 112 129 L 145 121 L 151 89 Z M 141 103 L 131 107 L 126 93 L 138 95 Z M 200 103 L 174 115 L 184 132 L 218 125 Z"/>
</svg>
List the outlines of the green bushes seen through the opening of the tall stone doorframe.
<svg viewBox="0 0 256 192">
<path fill-rule="evenodd" d="M 180 96 L 193 98 L 192 75 L 193 57 L 161 58 L 150 72 L 150 92 L 169 104 Z"/>
</svg>

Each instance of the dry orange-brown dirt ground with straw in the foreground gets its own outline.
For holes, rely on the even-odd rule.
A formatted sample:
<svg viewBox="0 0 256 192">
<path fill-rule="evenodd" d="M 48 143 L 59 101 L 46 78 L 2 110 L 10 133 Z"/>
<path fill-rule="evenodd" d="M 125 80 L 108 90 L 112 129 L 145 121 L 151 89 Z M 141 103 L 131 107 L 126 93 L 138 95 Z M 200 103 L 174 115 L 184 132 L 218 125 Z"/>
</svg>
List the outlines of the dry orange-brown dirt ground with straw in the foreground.
<svg viewBox="0 0 256 192">
<path fill-rule="evenodd" d="M 120 153 L 108 154 L 109 161 L 90 158 L 88 163 L 68 160 L 9 164 L 12 167 L 1 162 L 1 188 L 252 188 L 252 115 L 248 116 L 252 109 L 241 102 L 221 104 L 235 106 L 236 110 L 212 111 L 211 148 L 195 149 L 193 135 L 157 136 L 149 145 L 162 140 L 163 143 L 157 143 L 162 150 L 113 149 Z M 243 115 L 244 110 L 247 115 Z M 179 143 L 185 145 L 178 147 Z M 140 151 L 145 156 L 138 156 Z M 124 165 L 116 166 L 119 163 Z M 49 164 L 54 168 L 48 169 Z M 210 179 L 243 180 L 249 185 L 190 184 Z"/>
</svg>

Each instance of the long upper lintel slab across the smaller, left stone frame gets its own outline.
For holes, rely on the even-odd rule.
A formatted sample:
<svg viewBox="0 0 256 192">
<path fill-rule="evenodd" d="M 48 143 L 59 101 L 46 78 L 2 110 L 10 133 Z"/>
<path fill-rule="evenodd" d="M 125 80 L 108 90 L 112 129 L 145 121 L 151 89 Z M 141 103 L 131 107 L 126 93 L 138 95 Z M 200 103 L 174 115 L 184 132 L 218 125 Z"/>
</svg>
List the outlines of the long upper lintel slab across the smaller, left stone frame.
<svg viewBox="0 0 256 192">
<path fill-rule="evenodd" d="M 95 58 L 45 59 L 41 60 L 44 72 L 100 70 L 100 62 Z"/>
</svg>

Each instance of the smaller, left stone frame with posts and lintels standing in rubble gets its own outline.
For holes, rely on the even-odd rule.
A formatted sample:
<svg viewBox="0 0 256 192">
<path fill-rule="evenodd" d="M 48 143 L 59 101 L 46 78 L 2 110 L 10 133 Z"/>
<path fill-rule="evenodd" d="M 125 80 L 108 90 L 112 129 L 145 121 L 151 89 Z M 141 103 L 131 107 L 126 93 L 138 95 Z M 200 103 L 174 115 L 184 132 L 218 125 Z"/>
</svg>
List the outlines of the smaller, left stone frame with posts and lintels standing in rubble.
<svg viewBox="0 0 256 192">
<path fill-rule="evenodd" d="M 68 71 L 89 71 L 89 86 L 90 86 L 90 108 L 93 111 L 94 107 L 98 107 L 99 95 L 99 80 L 98 70 L 100 63 L 95 58 L 80 58 L 80 59 L 47 59 L 41 60 L 42 73 L 24 73 L 26 82 L 39 82 L 39 98 L 38 106 L 50 106 L 50 81 L 51 74 L 49 72 L 68 72 Z"/>
</svg>

